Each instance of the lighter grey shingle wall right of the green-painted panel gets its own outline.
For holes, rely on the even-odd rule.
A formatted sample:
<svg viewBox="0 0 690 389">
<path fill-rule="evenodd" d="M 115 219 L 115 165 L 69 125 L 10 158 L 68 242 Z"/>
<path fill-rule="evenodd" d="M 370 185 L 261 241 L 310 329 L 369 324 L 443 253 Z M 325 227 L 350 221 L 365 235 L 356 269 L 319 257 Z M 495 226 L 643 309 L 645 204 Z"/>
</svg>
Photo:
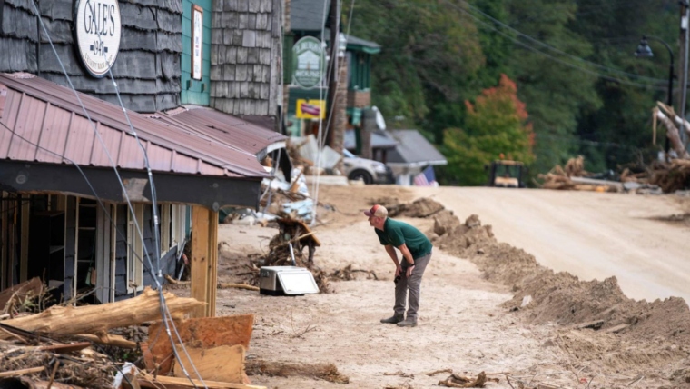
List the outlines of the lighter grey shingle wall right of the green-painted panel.
<svg viewBox="0 0 690 389">
<path fill-rule="evenodd" d="M 277 115 L 280 17 L 281 0 L 213 1 L 213 108 L 232 115 Z"/>
</svg>

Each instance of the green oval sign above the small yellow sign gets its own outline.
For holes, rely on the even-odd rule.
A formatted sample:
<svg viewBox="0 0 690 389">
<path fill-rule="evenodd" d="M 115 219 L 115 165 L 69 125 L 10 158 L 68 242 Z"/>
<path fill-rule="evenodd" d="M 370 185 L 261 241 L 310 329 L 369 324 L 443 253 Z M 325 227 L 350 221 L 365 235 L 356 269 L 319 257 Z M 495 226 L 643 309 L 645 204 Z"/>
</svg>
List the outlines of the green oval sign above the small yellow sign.
<svg viewBox="0 0 690 389">
<path fill-rule="evenodd" d="M 326 67 L 321 41 L 305 36 L 292 46 L 292 80 L 302 88 L 320 85 Z"/>
</svg>

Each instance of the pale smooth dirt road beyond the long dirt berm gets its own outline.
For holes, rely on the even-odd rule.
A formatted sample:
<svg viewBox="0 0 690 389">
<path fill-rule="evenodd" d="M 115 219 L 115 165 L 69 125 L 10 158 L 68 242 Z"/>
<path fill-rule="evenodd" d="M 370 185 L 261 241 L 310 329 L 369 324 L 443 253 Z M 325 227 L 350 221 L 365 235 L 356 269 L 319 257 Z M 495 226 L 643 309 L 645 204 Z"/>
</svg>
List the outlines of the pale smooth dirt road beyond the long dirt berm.
<svg viewBox="0 0 690 389">
<path fill-rule="evenodd" d="M 478 214 L 500 242 L 582 280 L 615 275 L 637 300 L 690 302 L 690 198 L 500 188 L 415 188 L 461 218 Z M 690 220 L 690 219 L 688 219 Z"/>
</svg>

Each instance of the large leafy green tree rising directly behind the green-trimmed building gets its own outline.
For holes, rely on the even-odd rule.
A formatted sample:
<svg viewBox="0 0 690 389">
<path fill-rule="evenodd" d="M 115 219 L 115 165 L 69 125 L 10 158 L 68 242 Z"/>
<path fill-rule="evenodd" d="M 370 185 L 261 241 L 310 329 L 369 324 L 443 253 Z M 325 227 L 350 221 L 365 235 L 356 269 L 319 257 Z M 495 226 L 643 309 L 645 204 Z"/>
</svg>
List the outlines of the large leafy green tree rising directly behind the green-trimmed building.
<svg viewBox="0 0 690 389">
<path fill-rule="evenodd" d="M 351 22 L 353 35 L 382 47 L 373 59 L 372 104 L 388 117 L 404 116 L 400 127 L 425 120 L 431 95 L 461 101 L 463 85 L 484 62 L 475 26 L 444 2 L 362 0 Z"/>
</svg>

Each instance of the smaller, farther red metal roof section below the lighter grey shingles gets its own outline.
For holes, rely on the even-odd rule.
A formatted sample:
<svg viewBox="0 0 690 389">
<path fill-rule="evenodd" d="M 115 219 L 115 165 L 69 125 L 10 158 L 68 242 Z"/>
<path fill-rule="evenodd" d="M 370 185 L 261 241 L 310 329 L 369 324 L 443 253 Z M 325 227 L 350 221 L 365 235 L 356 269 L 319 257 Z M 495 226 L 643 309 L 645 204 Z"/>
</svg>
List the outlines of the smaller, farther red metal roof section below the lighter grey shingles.
<svg viewBox="0 0 690 389">
<path fill-rule="evenodd" d="M 191 107 L 167 113 L 176 121 L 197 129 L 201 135 L 213 140 L 238 146 L 253 155 L 271 145 L 280 145 L 288 138 L 270 129 L 254 125 L 239 117 L 206 107 Z M 161 115 L 163 118 L 163 115 Z"/>
</svg>

